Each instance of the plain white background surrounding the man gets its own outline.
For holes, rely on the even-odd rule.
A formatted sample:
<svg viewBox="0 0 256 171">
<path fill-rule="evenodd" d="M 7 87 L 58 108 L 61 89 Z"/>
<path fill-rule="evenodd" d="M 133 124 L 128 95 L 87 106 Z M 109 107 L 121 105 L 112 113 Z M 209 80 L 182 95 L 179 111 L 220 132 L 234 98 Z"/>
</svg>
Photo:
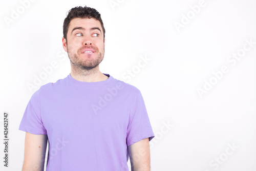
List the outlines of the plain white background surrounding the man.
<svg viewBox="0 0 256 171">
<path fill-rule="evenodd" d="M 152 170 L 255 171 L 256 1 L 205 0 L 195 14 L 190 6 L 198 4 L 37 0 L 24 8 L 20 1 L 1 0 L 0 170 L 22 169 L 25 133 L 18 130 L 20 120 L 40 86 L 70 73 L 61 45 L 63 20 L 72 7 L 87 5 L 101 13 L 106 30 L 101 72 L 133 84 L 144 97 L 156 136 L 151 141 Z M 6 22 L 13 11 L 19 16 Z M 175 24 L 182 22 L 177 29 Z M 254 44 L 245 52 L 250 39 Z M 228 62 L 238 52 L 245 54 Z M 141 57 L 150 61 L 138 70 Z M 58 67 L 29 89 L 52 61 Z M 228 72 L 217 79 L 212 72 L 223 66 Z M 131 80 L 125 78 L 127 70 L 136 72 Z M 213 85 L 208 83 L 200 96 L 205 81 Z M 8 168 L 3 166 L 4 112 L 9 113 Z M 168 130 L 166 124 L 173 126 Z"/>
</svg>

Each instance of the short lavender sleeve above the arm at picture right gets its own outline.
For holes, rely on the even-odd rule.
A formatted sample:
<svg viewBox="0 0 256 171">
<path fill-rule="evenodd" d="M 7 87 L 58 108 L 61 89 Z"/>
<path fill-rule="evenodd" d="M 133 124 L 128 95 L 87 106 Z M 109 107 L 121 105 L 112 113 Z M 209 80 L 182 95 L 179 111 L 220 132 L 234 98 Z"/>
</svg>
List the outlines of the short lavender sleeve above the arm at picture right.
<svg viewBox="0 0 256 171">
<path fill-rule="evenodd" d="M 133 110 L 127 126 L 127 146 L 144 138 L 149 138 L 151 141 L 155 137 L 140 91 L 137 93 L 137 95 L 135 95 L 132 108 Z"/>
</svg>

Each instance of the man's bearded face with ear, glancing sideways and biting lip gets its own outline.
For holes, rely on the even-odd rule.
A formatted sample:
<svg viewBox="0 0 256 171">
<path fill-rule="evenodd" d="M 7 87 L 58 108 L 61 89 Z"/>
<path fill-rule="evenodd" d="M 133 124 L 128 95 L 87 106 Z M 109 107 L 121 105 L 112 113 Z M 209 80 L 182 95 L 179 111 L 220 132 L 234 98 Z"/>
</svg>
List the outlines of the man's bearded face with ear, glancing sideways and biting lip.
<svg viewBox="0 0 256 171">
<path fill-rule="evenodd" d="M 62 45 L 74 67 L 90 70 L 104 57 L 105 39 L 100 22 L 94 18 L 73 18 Z"/>
</svg>

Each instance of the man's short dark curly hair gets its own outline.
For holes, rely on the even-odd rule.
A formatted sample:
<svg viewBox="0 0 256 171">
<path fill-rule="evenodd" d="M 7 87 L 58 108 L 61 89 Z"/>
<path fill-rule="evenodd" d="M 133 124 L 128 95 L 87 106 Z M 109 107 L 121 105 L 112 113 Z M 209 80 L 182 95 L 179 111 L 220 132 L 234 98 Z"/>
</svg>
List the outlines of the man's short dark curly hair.
<svg viewBox="0 0 256 171">
<path fill-rule="evenodd" d="M 105 28 L 103 26 L 103 22 L 102 22 L 102 19 L 100 17 L 100 13 L 94 8 L 90 8 L 90 7 L 87 7 L 87 6 L 84 6 L 84 7 L 80 6 L 80 7 L 74 7 L 71 10 L 69 10 L 69 14 L 67 15 L 67 17 L 64 20 L 64 23 L 63 23 L 63 37 L 65 39 L 67 39 L 69 24 L 70 24 L 70 21 L 73 18 L 94 18 L 94 19 L 98 20 L 101 24 L 102 29 L 103 29 L 103 37 L 105 38 Z"/>
</svg>

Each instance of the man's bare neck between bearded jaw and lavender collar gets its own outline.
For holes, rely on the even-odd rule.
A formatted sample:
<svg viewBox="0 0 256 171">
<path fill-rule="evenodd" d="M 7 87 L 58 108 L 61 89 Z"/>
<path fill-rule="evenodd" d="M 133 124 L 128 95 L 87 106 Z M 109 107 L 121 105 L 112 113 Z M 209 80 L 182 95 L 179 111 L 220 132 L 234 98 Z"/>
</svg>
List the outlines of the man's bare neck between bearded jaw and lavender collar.
<svg viewBox="0 0 256 171">
<path fill-rule="evenodd" d="M 99 66 L 91 70 L 82 70 L 74 66 L 71 66 L 70 75 L 74 79 L 78 81 L 83 81 L 83 82 L 98 82 L 98 81 L 104 81 L 109 78 L 108 76 L 102 74 L 99 71 Z"/>
</svg>

